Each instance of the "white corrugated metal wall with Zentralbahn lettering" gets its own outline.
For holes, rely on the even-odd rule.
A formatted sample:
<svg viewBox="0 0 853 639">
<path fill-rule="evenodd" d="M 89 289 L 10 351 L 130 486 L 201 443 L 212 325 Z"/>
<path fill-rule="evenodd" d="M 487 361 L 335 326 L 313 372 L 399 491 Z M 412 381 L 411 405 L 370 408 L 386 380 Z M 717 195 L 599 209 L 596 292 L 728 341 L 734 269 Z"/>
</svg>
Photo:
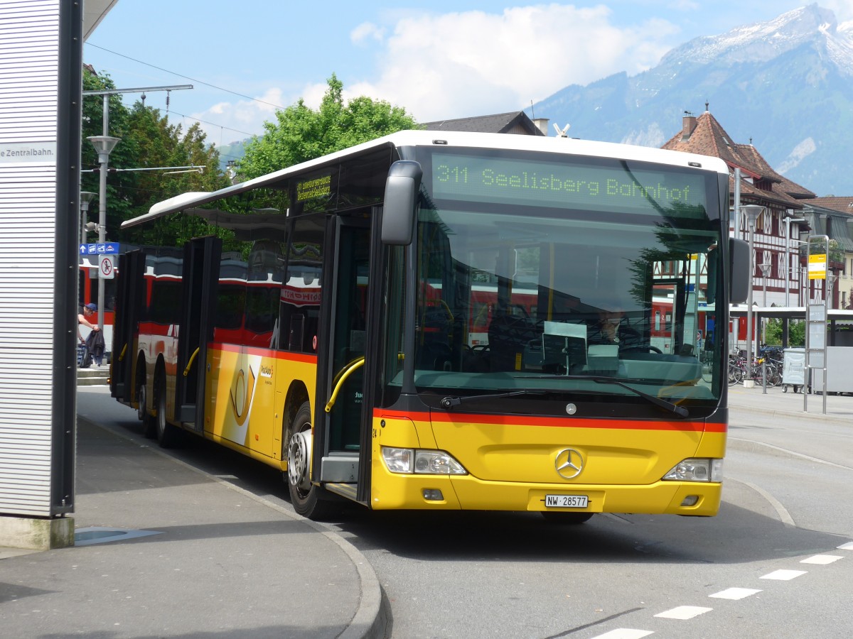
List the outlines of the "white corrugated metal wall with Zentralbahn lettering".
<svg viewBox="0 0 853 639">
<path fill-rule="evenodd" d="M 52 514 L 59 19 L 0 0 L 0 514 Z"/>
</svg>

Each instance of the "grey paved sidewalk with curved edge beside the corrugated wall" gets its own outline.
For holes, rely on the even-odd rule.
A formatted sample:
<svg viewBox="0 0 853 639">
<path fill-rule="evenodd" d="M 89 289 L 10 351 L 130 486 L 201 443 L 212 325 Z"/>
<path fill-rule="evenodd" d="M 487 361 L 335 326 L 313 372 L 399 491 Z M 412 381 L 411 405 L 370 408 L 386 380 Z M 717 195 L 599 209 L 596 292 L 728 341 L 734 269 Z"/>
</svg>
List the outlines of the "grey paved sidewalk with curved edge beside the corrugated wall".
<svg viewBox="0 0 853 639">
<path fill-rule="evenodd" d="M 384 636 L 339 535 L 84 417 L 77 459 L 77 545 L 0 548 L 0 636 Z"/>
</svg>

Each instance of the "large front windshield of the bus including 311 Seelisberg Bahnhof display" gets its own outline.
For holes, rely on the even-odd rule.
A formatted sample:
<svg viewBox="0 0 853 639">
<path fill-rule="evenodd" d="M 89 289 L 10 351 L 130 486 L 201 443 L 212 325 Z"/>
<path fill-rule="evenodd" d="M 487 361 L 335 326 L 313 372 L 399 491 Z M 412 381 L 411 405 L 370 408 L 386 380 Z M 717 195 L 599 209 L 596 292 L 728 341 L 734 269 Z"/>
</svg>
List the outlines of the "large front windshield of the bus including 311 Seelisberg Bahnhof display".
<svg viewBox="0 0 853 639">
<path fill-rule="evenodd" d="M 415 386 L 428 404 L 482 394 L 466 404 L 484 410 L 488 394 L 536 389 L 717 405 L 715 173 L 520 153 L 422 164 Z"/>
</svg>

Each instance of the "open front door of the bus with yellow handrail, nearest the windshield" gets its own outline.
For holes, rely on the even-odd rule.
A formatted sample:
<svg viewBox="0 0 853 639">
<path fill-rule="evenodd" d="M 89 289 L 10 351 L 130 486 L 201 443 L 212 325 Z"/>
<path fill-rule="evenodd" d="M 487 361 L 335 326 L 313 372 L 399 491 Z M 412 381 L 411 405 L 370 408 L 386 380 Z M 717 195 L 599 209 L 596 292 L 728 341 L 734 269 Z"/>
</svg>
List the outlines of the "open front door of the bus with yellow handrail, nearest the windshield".
<svg viewBox="0 0 853 639">
<path fill-rule="evenodd" d="M 331 303 L 324 309 L 320 342 L 328 350 L 317 371 L 314 423 L 322 428 L 314 429 L 312 475 L 334 492 L 356 498 L 361 433 L 369 420 L 364 358 L 370 228 L 366 219 L 337 218 L 334 224 L 334 264 L 324 269 L 328 288 L 323 288 L 332 295 L 323 296 Z"/>
</svg>

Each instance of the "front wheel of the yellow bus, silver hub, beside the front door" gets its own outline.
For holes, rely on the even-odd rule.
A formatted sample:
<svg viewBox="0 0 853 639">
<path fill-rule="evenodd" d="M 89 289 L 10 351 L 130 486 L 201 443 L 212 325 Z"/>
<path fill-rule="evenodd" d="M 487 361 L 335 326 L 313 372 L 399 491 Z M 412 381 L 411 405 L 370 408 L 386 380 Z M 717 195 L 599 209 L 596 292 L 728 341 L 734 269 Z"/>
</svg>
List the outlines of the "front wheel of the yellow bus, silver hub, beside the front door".
<svg viewBox="0 0 853 639">
<path fill-rule="evenodd" d="M 290 502 L 299 515 L 308 519 L 324 519 L 339 511 L 337 504 L 324 499 L 320 486 L 311 483 L 311 407 L 306 401 L 299 406 L 290 427 L 287 442 L 287 489 Z"/>
</svg>

